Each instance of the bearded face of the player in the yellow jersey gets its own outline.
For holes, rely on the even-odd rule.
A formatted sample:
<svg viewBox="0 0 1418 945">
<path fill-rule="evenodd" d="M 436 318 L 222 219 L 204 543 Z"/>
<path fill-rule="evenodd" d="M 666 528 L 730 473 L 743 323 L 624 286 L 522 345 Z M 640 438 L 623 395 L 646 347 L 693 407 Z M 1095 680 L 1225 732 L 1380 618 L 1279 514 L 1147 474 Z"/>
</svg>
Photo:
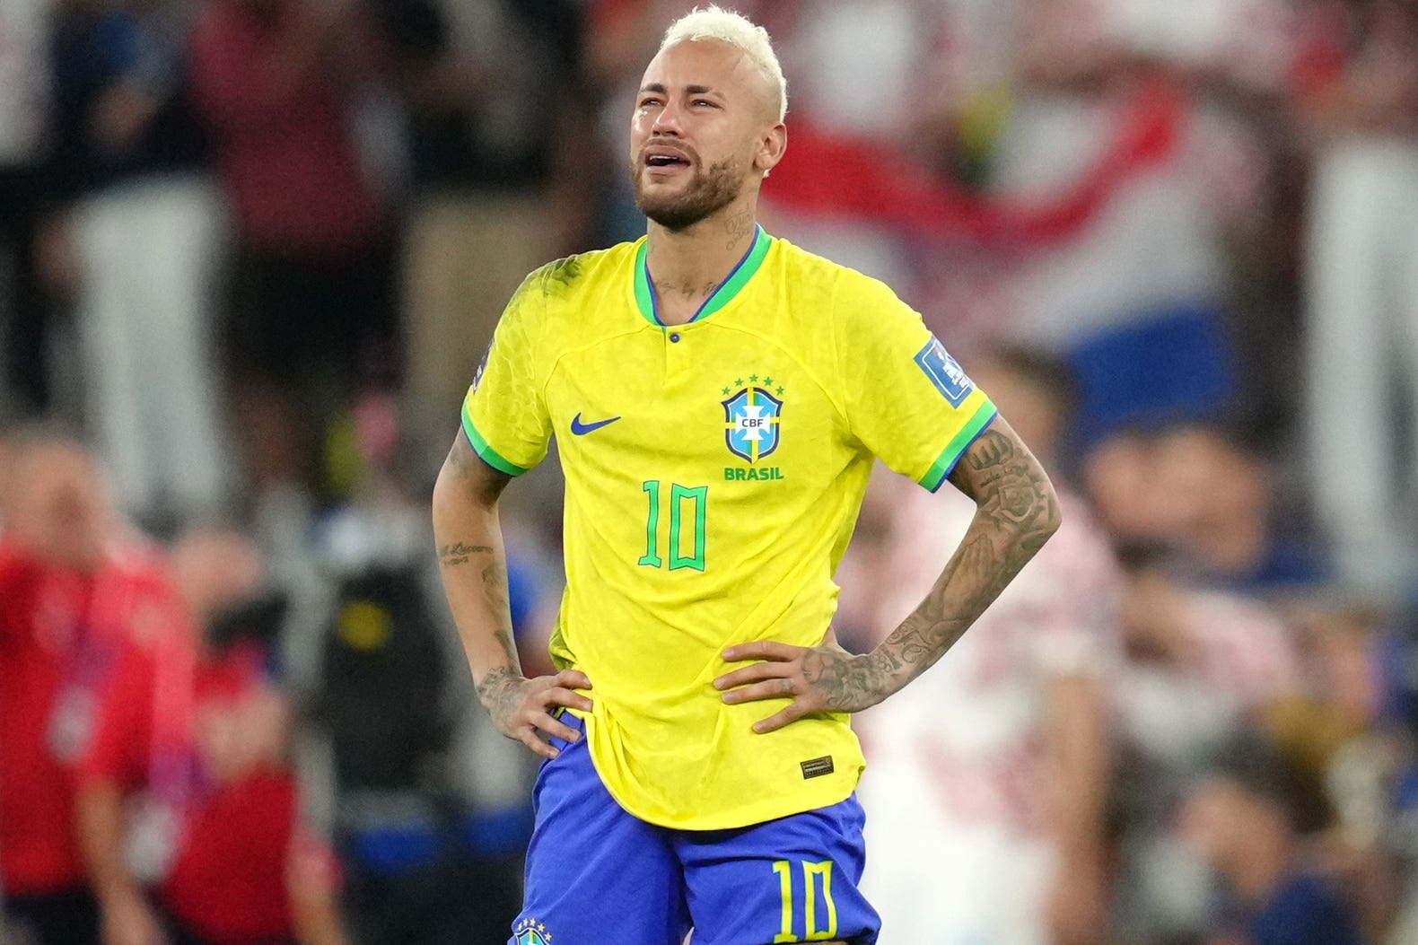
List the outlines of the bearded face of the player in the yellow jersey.
<svg viewBox="0 0 1418 945">
<path fill-rule="evenodd" d="M 769 79 L 727 43 L 676 43 L 651 60 L 630 133 L 641 213 L 683 230 L 756 184 L 778 123 L 770 96 Z"/>
</svg>

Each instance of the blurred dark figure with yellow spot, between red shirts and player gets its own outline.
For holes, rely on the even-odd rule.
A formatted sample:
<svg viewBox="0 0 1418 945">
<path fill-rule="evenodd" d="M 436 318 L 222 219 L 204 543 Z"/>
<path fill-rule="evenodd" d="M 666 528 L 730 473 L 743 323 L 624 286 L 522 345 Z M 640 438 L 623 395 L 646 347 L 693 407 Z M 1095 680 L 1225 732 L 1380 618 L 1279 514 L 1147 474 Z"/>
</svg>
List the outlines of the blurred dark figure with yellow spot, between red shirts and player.
<svg viewBox="0 0 1418 945">
<path fill-rule="evenodd" d="M 406 467 L 393 404 L 362 403 L 353 437 L 352 501 L 316 529 L 330 595 L 306 684 L 350 929 L 369 945 L 505 945 L 520 908 L 535 768 L 476 709 L 427 553 L 427 502 L 407 485 L 424 477 Z M 545 582 L 518 532 L 509 522 L 508 583 L 525 646 L 540 637 Z M 529 665 L 547 661 L 539 643 Z"/>
</svg>

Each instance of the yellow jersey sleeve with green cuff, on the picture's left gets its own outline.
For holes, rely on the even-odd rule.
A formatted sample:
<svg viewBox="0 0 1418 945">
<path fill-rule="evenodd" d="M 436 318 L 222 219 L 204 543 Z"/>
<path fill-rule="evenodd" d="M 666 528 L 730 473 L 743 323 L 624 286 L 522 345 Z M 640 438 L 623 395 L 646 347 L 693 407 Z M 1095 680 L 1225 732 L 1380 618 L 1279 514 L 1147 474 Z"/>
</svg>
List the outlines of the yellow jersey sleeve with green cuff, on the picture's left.
<svg viewBox="0 0 1418 945">
<path fill-rule="evenodd" d="M 520 475 L 546 457 L 552 419 L 545 399 L 545 294 L 533 272 L 508 302 L 492 346 L 462 403 L 462 430 L 482 461 Z"/>
</svg>

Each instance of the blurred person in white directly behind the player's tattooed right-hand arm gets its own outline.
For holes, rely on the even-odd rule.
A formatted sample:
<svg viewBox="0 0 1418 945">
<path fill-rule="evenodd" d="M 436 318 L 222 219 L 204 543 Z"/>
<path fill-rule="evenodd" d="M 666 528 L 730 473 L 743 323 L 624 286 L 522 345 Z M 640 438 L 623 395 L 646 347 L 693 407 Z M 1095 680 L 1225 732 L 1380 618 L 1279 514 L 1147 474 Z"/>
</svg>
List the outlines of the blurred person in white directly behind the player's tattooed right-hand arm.
<svg viewBox="0 0 1418 945">
<path fill-rule="evenodd" d="M 973 372 L 1045 465 L 1066 375 L 1004 352 Z M 926 596 L 974 507 L 898 482 L 878 634 Z M 1076 497 L 1064 526 L 922 680 L 862 712 L 868 895 L 892 941 L 1102 941 L 1109 883 L 1106 695 L 1119 575 Z M 912 695 L 915 692 L 915 695 Z"/>
</svg>

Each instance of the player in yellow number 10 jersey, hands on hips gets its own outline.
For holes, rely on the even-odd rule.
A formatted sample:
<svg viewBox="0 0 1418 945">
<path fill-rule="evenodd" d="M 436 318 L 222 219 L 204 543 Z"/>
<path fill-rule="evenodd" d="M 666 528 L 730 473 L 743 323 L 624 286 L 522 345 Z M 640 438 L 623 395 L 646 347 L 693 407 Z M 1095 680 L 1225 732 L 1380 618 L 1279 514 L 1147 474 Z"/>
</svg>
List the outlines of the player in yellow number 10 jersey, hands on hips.
<svg viewBox="0 0 1418 945">
<path fill-rule="evenodd" d="M 1058 528 L 1044 470 L 920 316 L 756 224 L 786 106 L 761 28 L 718 7 L 669 27 L 631 118 L 647 237 L 523 282 L 434 490 L 479 698 L 546 759 L 513 945 L 875 942 L 849 714 Z M 553 436 L 559 671 L 526 678 L 498 497 Z M 832 573 L 873 457 L 977 511 L 927 599 L 854 656 Z"/>
</svg>

